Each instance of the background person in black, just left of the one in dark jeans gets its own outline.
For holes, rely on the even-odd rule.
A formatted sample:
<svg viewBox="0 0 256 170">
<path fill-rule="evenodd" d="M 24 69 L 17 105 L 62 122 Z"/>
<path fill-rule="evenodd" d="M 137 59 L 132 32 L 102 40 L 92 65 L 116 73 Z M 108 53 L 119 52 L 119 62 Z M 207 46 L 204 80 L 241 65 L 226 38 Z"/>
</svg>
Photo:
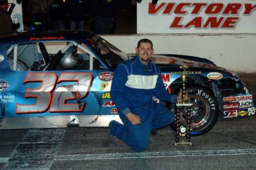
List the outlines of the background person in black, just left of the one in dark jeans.
<svg viewBox="0 0 256 170">
<path fill-rule="evenodd" d="M 84 29 L 84 20 L 88 16 L 88 6 L 86 0 L 66 0 L 71 30 Z"/>
</svg>

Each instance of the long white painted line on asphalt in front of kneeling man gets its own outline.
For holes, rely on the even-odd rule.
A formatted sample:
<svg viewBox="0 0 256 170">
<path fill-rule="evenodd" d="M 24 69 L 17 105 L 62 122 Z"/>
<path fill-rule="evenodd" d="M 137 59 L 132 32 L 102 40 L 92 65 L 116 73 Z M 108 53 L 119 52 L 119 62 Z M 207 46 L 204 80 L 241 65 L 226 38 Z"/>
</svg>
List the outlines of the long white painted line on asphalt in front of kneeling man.
<svg viewBox="0 0 256 170">
<path fill-rule="evenodd" d="M 163 158 L 185 156 L 220 156 L 256 154 L 256 149 L 217 150 L 217 151 L 177 151 L 177 152 L 148 152 L 148 153 L 117 153 L 117 154 L 78 154 L 56 155 L 54 160 L 99 160 L 99 159 L 135 159 L 135 158 Z"/>
</svg>

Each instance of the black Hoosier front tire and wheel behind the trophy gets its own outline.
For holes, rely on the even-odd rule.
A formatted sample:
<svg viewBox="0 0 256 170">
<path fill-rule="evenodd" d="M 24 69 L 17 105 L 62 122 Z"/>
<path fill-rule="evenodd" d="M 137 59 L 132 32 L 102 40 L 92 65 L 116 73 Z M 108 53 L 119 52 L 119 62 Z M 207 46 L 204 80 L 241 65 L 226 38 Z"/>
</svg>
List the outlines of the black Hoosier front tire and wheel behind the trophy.
<svg viewBox="0 0 256 170">
<path fill-rule="evenodd" d="M 219 106 L 214 94 L 201 86 L 186 87 L 190 103 L 190 136 L 199 136 L 208 132 L 218 120 Z M 170 105 L 167 105 L 167 107 Z M 180 123 L 186 125 L 187 107 L 180 107 Z"/>
</svg>

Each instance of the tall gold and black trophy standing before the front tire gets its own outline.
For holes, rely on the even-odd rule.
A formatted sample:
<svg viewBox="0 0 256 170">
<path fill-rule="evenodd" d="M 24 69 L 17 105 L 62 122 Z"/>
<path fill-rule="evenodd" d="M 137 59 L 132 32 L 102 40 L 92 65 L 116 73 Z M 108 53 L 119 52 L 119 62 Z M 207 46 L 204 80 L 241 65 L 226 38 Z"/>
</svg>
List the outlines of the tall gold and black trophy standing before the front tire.
<svg viewBox="0 0 256 170">
<path fill-rule="evenodd" d="M 182 100 L 181 103 L 177 100 L 177 112 L 176 112 L 176 143 L 175 145 L 191 145 L 190 142 L 190 107 L 191 103 L 190 100 L 187 102 L 184 100 L 186 94 L 186 84 L 185 81 L 187 79 L 186 69 L 188 65 L 182 65 L 179 68 L 183 69 L 181 74 L 181 81 L 182 81 Z M 186 126 L 181 125 L 180 123 L 180 109 L 183 107 L 183 114 L 187 114 L 186 116 Z"/>
</svg>

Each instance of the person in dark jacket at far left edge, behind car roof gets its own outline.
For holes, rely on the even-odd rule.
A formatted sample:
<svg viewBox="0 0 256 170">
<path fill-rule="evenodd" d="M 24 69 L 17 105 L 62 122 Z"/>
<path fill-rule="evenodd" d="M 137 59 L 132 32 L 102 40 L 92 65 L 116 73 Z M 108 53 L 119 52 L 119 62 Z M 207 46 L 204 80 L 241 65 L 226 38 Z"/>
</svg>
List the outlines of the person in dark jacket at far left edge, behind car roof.
<svg viewBox="0 0 256 170">
<path fill-rule="evenodd" d="M 12 18 L 8 13 L 8 0 L 0 0 L 0 35 L 15 33 L 19 28 L 19 23 L 12 23 Z"/>
</svg>

